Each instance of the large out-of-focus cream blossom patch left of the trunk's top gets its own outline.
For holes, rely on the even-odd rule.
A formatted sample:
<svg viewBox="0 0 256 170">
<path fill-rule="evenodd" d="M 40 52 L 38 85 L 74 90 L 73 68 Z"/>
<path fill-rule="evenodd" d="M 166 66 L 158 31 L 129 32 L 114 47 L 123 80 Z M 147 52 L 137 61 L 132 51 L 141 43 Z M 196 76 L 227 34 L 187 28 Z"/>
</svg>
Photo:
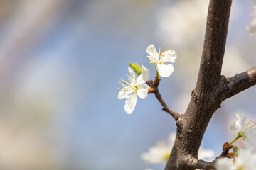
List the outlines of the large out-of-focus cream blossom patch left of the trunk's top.
<svg viewBox="0 0 256 170">
<path fill-rule="evenodd" d="M 207 11 L 208 1 L 201 0 L 177 1 L 175 6 L 164 6 L 157 14 L 161 37 L 169 37 L 182 47 L 197 45 L 198 40 L 203 40 Z"/>
</svg>

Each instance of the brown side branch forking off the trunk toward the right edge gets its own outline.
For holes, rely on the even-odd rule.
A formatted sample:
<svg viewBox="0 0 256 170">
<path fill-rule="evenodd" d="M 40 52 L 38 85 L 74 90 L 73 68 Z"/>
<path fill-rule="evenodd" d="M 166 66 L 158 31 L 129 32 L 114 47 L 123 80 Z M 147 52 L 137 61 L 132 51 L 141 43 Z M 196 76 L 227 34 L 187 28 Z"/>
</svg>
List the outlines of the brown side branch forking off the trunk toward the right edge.
<svg viewBox="0 0 256 170">
<path fill-rule="evenodd" d="M 220 101 L 224 101 L 256 84 L 256 67 L 236 74 L 231 78 L 223 77 L 221 83 L 222 89 L 220 90 L 219 98 Z"/>
</svg>

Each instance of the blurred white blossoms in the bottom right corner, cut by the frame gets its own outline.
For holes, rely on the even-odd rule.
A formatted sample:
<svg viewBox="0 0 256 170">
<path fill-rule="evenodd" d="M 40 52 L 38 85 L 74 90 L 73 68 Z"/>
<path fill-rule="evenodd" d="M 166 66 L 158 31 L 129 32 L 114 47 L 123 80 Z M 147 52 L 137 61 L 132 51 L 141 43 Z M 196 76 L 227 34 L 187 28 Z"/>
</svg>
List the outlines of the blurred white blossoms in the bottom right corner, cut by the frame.
<svg viewBox="0 0 256 170">
<path fill-rule="evenodd" d="M 238 157 L 232 159 L 218 159 L 216 162 L 217 170 L 255 170 L 256 154 L 250 149 L 238 150 Z"/>
</svg>

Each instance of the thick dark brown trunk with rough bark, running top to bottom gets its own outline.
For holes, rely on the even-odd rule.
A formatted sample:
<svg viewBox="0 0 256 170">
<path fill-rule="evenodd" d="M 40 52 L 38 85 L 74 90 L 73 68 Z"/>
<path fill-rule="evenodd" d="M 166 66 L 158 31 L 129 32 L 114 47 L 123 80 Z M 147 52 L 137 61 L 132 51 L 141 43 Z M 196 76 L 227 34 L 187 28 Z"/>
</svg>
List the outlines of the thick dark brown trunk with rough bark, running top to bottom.
<svg viewBox="0 0 256 170">
<path fill-rule="evenodd" d="M 190 170 L 198 167 L 191 166 L 191 160 L 193 162 L 193 159 L 197 159 L 206 127 L 222 101 L 218 92 L 220 87 L 223 87 L 220 73 L 231 2 L 232 0 L 210 0 L 196 88 L 186 113 L 176 122 L 178 125 L 176 140 L 165 170 Z"/>
</svg>

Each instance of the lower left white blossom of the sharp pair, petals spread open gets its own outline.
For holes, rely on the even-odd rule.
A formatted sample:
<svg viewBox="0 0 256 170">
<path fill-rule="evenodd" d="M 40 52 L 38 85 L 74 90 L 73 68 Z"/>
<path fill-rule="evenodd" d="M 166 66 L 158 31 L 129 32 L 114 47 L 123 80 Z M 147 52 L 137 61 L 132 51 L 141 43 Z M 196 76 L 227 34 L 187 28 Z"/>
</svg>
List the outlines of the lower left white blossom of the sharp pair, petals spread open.
<svg viewBox="0 0 256 170">
<path fill-rule="evenodd" d="M 147 86 L 144 83 L 149 80 L 150 73 L 149 69 L 146 69 L 144 65 L 142 65 L 142 74 L 140 74 L 137 79 L 130 67 L 128 67 L 128 71 L 130 73 L 130 76 L 127 75 L 127 79 L 129 82 L 121 79 L 122 81 L 124 81 L 124 84 L 122 84 L 121 81 L 119 81 L 119 83 L 122 84 L 123 88 L 119 92 L 117 98 L 126 98 L 124 110 L 128 114 L 131 114 L 136 106 L 137 96 L 139 96 L 142 99 L 145 99 L 148 94 L 149 86 Z"/>
</svg>

